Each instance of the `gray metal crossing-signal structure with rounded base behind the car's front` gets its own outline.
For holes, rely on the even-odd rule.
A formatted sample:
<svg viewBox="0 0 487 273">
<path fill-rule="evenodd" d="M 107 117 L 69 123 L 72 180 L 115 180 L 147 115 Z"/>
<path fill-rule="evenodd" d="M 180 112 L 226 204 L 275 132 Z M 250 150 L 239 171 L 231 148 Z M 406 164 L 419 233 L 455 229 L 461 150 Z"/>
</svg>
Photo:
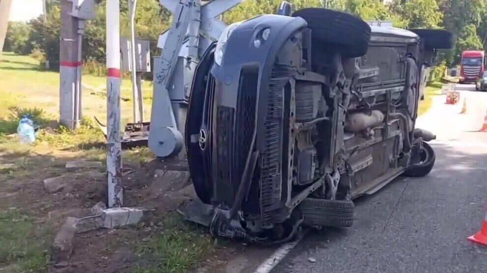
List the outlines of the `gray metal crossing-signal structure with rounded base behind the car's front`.
<svg viewBox="0 0 487 273">
<path fill-rule="evenodd" d="M 162 55 L 154 61 L 154 95 L 149 148 L 158 157 L 183 147 L 187 104 L 196 66 L 226 25 L 216 17 L 243 0 L 160 0 L 173 12 L 171 28 L 158 42 Z"/>
</svg>

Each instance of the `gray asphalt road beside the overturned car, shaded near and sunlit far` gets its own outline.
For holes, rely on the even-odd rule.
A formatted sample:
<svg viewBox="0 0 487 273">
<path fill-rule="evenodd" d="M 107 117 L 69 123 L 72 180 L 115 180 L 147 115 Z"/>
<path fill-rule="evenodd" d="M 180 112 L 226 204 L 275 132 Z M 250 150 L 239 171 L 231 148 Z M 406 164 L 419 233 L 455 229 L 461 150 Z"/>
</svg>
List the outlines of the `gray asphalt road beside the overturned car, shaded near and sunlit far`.
<svg viewBox="0 0 487 273">
<path fill-rule="evenodd" d="M 434 131 L 436 165 L 424 178 L 399 178 L 356 200 L 346 230 L 309 235 L 272 273 L 486 273 L 487 247 L 467 241 L 487 202 L 487 93 L 458 85 L 459 105 L 435 96 L 417 127 Z M 458 114 L 466 98 L 467 112 Z M 309 258 L 316 262 L 309 262 Z"/>
</svg>

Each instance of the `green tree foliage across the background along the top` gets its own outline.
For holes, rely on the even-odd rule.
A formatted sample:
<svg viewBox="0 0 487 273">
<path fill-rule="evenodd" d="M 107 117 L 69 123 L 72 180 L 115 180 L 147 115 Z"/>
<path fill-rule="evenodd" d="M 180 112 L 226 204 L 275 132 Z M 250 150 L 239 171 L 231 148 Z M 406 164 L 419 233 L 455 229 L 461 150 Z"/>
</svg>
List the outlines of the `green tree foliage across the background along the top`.
<svg viewBox="0 0 487 273">
<path fill-rule="evenodd" d="M 487 49 L 487 0 L 288 0 L 295 9 L 324 7 L 343 10 L 364 20 L 391 20 L 402 28 L 446 28 L 458 36 L 458 47 L 440 53 L 447 65 L 458 62 L 459 52 L 473 47 Z M 105 5 L 97 0 L 97 18 L 88 21 L 83 41 L 86 73 L 105 74 Z M 225 12 L 220 19 L 230 24 L 259 14 L 274 14 L 282 0 L 246 0 Z M 59 61 L 59 0 L 47 0 L 47 22 L 38 18 L 25 23 L 10 23 L 5 50 L 29 54 L 36 50 L 41 61 L 56 67 Z M 171 25 L 171 12 L 158 0 L 138 0 L 135 17 L 136 35 L 150 41 L 152 55 L 159 55 L 159 35 Z M 130 35 L 127 1 L 120 1 L 120 33 Z M 472 31 L 474 30 L 474 31 Z M 481 45 L 479 47 L 479 45 Z M 42 52 L 42 54 L 39 54 Z M 43 55 L 43 56 L 42 56 Z"/>
</svg>

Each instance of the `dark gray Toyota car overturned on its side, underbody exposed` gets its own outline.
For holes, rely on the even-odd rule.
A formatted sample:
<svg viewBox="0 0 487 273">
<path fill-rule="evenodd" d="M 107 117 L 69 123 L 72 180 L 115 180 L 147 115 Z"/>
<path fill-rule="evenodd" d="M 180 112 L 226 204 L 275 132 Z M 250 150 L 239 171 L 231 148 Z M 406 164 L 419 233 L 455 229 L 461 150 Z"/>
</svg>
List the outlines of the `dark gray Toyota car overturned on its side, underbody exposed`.
<svg viewBox="0 0 487 273">
<path fill-rule="evenodd" d="M 230 25 L 195 74 L 185 141 L 200 200 L 180 211 L 260 243 L 351 226 L 353 199 L 433 168 L 434 135 L 415 128 L 422 71 L 451 47 L 444 30 L 322 8 Z"/>
</svg>

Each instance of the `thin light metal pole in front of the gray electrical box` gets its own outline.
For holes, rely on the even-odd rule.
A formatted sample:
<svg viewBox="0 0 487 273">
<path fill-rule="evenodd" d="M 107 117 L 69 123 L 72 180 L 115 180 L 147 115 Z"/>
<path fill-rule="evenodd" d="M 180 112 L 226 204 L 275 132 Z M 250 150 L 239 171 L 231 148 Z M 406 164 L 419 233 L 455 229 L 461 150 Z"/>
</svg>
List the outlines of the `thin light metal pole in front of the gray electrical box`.
<svg viewBox="0 0 487 273">
<path fill-rule="evenodd" d="M 133 96 L 133 113 L 134 123 L 142 122 L 139 116 L 139 92 L 137 91 L 137 65 L 136 65 L 136 44 L 135 44 L 135 10 L 137 0 L 128 0 L 130 10 L 130 59 L 132 63 L 132 96 Z"/>
</svg>

